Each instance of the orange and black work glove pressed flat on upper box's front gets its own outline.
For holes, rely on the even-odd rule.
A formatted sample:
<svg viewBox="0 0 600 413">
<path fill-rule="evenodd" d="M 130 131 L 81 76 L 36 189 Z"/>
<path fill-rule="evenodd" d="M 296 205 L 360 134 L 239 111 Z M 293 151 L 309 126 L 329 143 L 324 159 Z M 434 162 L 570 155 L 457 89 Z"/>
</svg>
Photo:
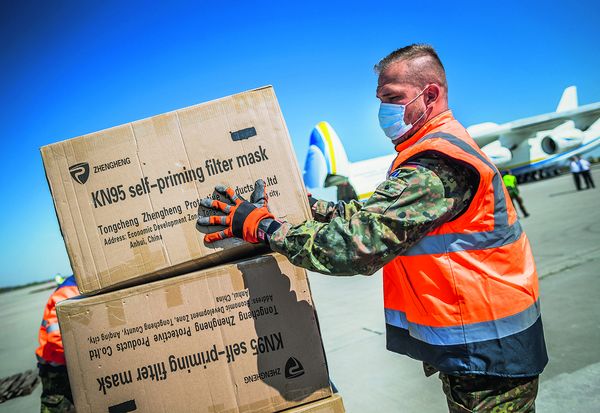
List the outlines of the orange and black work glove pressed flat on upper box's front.
<svg viewBox="0 0 600 413">
<path fill-rule="evenodd" d="M 254 183 L 254 191 L 250 196 L 250 202 L 237 195 L 233 188 L 225 185 L 215 186 L 215 191 L 224 196 L 230 203 L 204 198 L 200 200 L 200 207 L 224 212 L 226 215 L 200 216 L 201 210 L 199 207 L 197 223 L 208 227 L 225 226 L 226 228 L 222 231 L 206 234 L 204 242 L 210 244 L 232 237 L 241 238 L 253 244 L 266 241 L 267 230 L 277 221 L 275 221 L 275 217 L 267 207 L 265 181 L 259 179 Z"/>
</svg>

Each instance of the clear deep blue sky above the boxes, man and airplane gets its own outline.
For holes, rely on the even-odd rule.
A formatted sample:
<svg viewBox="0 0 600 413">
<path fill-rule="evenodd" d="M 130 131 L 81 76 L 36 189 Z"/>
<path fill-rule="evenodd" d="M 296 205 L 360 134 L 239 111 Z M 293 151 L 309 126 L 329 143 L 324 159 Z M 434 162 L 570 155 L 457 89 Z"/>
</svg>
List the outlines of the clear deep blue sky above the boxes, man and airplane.
<svg viewBox="0 0 600 413">
<path fill-rule="evenodd" d="M 0 286 L 70 272 L 39 147 L 275 87 L 303 164 L 328 120 L 350 160 L 392 149 L 372 67 L 431 43 L 465 125 L 600 101 L 597 2 L 2 2 Z"/>
</svg>

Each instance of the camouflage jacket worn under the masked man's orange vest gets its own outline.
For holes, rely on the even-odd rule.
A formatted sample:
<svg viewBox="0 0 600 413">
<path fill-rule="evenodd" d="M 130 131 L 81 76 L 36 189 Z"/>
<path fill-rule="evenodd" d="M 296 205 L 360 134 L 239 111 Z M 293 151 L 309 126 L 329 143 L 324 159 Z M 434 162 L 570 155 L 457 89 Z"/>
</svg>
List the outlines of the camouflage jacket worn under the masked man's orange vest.
<svg viewBox="0 0 600 413">
<path fill-rule="evenodd" d="M 312 220 L 284 222 L 269 244 L 311 271 L 373 274 L 464 211 L 477 179 L 468 167 L 427 155 L 391 173 L 364 204 L 317 201 Z"/>
</svg>

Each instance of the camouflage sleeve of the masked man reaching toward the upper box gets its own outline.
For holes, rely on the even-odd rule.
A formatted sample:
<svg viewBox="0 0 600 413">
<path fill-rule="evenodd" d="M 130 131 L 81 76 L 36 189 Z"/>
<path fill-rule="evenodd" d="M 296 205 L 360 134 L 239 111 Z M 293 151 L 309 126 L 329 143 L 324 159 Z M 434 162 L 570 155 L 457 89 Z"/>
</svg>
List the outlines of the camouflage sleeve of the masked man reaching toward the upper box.
<svg viewBox="0 0 600 413">
<path fill-rule="evenodd" d="M 431 170 L 406 167 L 394 175 L 349 217 L 283 223 L 270 237 L 271 249 L 323 274 L 373 274 L 448 220 L 454 205 Z"/>
</svg>

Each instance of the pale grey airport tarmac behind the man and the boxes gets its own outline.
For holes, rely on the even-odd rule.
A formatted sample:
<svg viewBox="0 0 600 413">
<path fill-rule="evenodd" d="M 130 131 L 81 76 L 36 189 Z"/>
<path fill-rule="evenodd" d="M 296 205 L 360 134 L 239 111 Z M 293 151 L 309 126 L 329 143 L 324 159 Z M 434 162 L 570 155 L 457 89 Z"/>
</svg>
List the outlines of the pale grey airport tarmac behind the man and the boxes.
<svg viewBox="0 0 600 413">
<path fill-rule="evenodd" d="M 600 169 L 593 171 L 600 184 Z M 538 264 L 550 363 L 538 412 L 600 411 L 600 189 L 577 192 L 564 175 L 521 187 L 522 220 Z M 385 350 L 381 272 L 310 275 L 331 378 L 350 413 L 447 411 L 441 382 L 421 364 Z M 37 329 L 50 290 L 0 295 L 0 377 L 35 366 Z M 0 404 L 39 411 L 41 386 Z"/>
</svg>

